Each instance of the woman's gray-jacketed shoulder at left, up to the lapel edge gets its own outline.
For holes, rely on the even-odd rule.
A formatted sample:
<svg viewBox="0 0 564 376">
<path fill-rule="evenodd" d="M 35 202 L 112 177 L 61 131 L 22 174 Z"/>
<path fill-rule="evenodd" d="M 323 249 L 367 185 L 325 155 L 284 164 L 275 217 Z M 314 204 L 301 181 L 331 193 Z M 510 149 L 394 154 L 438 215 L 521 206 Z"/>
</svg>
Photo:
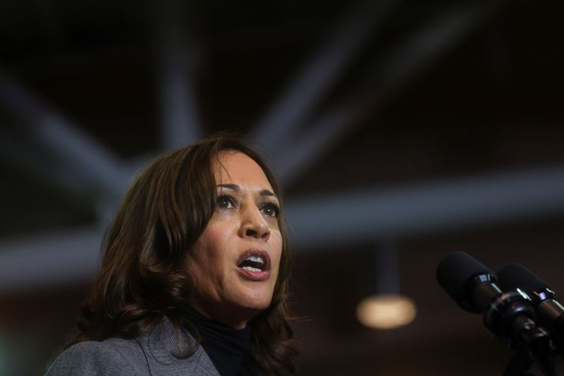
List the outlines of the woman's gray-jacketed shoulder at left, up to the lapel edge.
<svg viewBox="0 0 564 376">
<path fill-rule="evenodd" d="M 55 359 L 46 376 L 136 375 L 134 365 L 143 355 L 138 345 L 135 349 L 134 341 L 107 339 L 74 344 Z"/>
</svg>

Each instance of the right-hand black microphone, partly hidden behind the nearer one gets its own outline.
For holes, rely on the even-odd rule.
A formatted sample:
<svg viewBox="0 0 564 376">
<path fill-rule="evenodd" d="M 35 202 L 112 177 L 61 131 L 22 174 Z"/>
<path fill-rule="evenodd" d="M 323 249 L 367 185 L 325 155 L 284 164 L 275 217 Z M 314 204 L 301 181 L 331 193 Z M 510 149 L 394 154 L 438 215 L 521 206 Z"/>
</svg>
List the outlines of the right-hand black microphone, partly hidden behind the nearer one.
<svg viewBox="0 0 564 376">
<path fill-rule="evenodd" d="M 558 349 L 564 348 L 564 307 L 558 302 L 553 288 L 525 266 L 518 263 L 505 265 L 498 272 L 499 285 L 504 290 L 521 289 L 532 298 L 539 325 L 556 339 Z"/>
</svg>

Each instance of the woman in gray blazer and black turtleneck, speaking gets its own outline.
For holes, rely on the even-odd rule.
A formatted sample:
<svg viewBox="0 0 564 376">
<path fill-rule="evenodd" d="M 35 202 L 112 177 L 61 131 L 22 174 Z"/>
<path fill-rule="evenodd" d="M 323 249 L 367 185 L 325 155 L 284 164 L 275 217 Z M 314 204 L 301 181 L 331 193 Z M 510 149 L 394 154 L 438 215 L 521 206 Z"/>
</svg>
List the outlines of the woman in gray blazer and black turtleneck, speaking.
<svg viewBox="0 0 564 376">
<path fill-rule="evenodd" d="M 47 375 L 293 373 L 280 199 L 262 158 L 231 137 L 157 158 L 125 195 Z"/>
</svg>

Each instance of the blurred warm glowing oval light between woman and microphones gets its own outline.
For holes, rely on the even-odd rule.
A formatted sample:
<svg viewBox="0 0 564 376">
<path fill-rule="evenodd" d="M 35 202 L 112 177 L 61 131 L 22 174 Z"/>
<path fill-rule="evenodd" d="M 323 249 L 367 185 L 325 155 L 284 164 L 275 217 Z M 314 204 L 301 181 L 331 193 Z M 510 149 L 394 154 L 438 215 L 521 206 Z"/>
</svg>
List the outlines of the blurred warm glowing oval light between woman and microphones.
<svg viewBox="0 0 564 376">
<path fill-rule="evenodd" d="M 415 303 L 397 294 L 369 296 L 357 306 L 357 318 L 367 327 L 393 329 L 407 325 L 415 318 Z"/>
</svg>

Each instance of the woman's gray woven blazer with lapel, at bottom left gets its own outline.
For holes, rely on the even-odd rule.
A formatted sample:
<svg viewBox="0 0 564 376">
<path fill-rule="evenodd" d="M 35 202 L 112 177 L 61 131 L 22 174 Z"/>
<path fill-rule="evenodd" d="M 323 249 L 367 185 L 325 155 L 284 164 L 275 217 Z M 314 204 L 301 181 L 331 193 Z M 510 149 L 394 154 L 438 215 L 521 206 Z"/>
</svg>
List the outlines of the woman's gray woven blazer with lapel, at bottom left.
<svg viewBox="0 0 564 376">
<path fill-rule="evenodd" d="M 180 336 L 181 346 L 190 344 L 188 341 L 194 341 L 188 333 Z M 164 318 L 153 330 L 135 339 L 109 338 L 74 344 L 55 359 L 45 376 L 219 376 L 202 346 L 186 359 L 172 355 L 177 349 L 174 328 Z"/>
</svg>

